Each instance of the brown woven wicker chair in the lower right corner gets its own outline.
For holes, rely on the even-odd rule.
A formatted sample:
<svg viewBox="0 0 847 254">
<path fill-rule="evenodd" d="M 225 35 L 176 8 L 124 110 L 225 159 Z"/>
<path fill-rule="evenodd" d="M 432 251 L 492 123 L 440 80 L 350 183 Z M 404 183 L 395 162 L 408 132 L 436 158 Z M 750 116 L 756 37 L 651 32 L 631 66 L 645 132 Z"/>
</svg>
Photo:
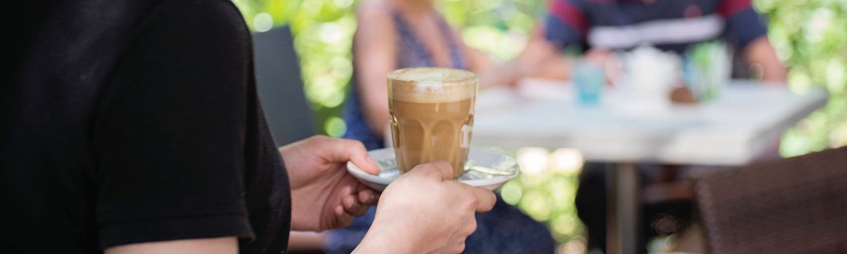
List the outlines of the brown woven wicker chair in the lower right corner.
<svg viewBox="0 0 847 254">
<path fill-rule="evenodd" d="M 847 147 L 696 179 L 711 253 L 847 253 Z"/>
</svg>

